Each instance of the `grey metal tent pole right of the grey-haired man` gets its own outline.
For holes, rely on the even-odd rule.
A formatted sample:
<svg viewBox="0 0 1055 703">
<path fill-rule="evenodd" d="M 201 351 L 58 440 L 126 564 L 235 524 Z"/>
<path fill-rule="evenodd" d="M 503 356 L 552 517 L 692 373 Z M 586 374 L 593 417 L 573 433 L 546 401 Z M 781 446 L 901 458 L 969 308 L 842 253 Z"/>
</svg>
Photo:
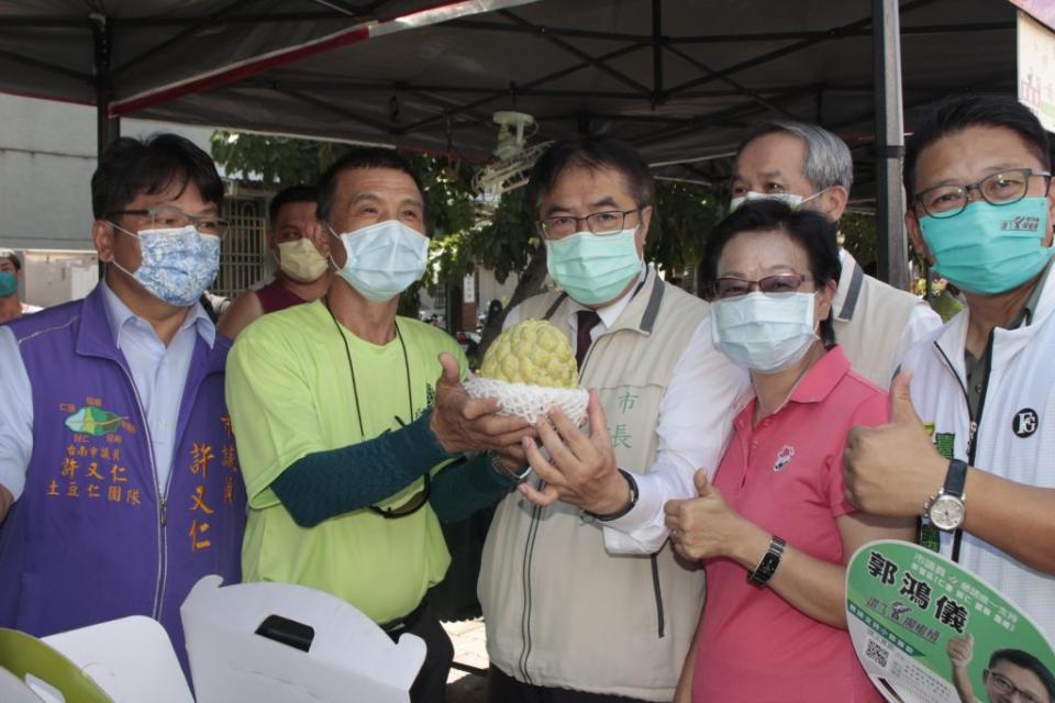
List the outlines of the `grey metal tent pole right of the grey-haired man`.
<svg viewBox="0 0 1055 703">
<path fill-rule="evenodd" d="M 904 238 L 904 115 L 901 100 L 901 36 L 898 0 L 873 0 L 871 46 L 876 80 L 876 233 L 879 278 L 908 290 Z"/>
</svg>

